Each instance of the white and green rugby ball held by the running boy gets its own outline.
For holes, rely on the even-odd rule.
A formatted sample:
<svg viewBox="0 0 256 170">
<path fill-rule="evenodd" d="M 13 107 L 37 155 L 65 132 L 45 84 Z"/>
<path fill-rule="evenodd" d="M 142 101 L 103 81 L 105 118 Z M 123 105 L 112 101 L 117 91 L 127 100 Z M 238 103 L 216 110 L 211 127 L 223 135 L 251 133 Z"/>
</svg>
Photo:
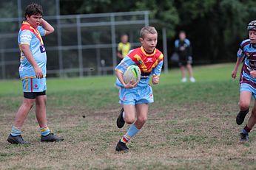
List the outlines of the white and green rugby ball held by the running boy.
<svg viewBox="0 0 256 170">
<path fill-rule="evenodd" d="M 129 65 L 127 70 L 124 71 L 124 82 L 127 84 L 128 82 L 135 82 L 141 79 L 141 69 L 137 65 Z"/>
</svg>

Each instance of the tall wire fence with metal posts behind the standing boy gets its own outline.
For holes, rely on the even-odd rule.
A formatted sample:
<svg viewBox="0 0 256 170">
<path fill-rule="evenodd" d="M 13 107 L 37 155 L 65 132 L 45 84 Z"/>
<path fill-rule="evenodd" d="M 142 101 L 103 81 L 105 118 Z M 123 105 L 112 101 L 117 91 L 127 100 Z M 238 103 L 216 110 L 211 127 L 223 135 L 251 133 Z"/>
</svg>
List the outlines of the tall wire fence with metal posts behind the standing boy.
<svg viewBox="0 0 256 170">
<path fill-rule="evenodd" d="M 18 30 L 24 8 L 31 2 L 0 1 L 0 79 L 18 78 Z M 136 48 L 141 46 L 141 27 L 149 25 L 148 11 L 59 15 L 58 0 L 36 3 L 42 5 L 43 17 L 55 28 L 52 35 L 43 38 L 47 77 L 113 74 L 120 36 L 129 35 L 132 48 Z"/>
</svg>

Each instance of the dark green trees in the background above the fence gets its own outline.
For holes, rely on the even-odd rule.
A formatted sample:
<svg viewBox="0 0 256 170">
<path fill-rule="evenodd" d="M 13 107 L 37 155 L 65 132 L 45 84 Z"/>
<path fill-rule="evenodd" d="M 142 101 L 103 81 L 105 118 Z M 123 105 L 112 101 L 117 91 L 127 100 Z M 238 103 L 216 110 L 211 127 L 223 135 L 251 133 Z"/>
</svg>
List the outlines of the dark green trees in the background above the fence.
<svg viewBox="0 0 256 170">
<path fill-rule="evenodd" d="M 60 3 L 62 15 L 149 10 L 151 20 L 166 26 L 169 44 L 173 44 L 176 32 L 181 29 L 187 32 L 195 63 L 235 60 L 238 43 L 247 36 L 246 24 L 256 19 L 254 0 L 61 0 Z"/>
</svg>

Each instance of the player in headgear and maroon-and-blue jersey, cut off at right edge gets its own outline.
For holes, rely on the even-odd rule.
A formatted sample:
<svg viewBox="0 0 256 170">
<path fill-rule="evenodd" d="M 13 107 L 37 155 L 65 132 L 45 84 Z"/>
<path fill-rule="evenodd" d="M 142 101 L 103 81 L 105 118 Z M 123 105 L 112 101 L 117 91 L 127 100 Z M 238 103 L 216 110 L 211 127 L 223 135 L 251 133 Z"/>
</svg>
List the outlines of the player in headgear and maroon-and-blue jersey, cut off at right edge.
<svg viewBox="0 0 256 170">
<path fill-rule="evenodd" d="M 238 66 L 243 61 L 243 67 L 240 74 L 240 112 L 236 118 L 237 124 L 243 124 L 246 114 L 249 113 L 251 97 L 256 99 L 256 20 L 247 26 L 249 39 L 243 40 L 238 50 L 238 60 L 232 71 L 232 78 L 235 79 L 238 74 Z M 256 100 L 252 108 L 252 114 L 248 123 L 240 132 L 240 141 L 249 141 L 249 132 L 256 124 Z"/>
</svg>

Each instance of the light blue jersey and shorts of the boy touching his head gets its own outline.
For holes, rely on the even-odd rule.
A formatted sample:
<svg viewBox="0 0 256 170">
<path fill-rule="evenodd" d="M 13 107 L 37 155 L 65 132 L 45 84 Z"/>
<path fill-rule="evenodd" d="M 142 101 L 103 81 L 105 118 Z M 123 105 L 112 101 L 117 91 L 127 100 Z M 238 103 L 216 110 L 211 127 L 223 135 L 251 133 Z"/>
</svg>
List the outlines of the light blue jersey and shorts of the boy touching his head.
<svg viewBox="0 0 256 170">
<path fill-rule="evenodd" d="M 18 46 L 22 44 L 27 44 L 30 46 L 30 52 L 32 53 L 34 59 L 41 71 L 43 72 L 44 78 L 36 79 L 36 74 L 33 66 L 27 60 L 27 57 L 21 51 L 19 75 L 23 82 L 24 92 L 41 92 L 46 90 L 46 64 L 47 64 L 47 54 L 44 48 L 44 42 L 41 36 L 45 35 L 45 29 L 42 26 L 33 28 L 24 21 L 21 25 L 21 29 L 18 32 Z"/>
</svg>

